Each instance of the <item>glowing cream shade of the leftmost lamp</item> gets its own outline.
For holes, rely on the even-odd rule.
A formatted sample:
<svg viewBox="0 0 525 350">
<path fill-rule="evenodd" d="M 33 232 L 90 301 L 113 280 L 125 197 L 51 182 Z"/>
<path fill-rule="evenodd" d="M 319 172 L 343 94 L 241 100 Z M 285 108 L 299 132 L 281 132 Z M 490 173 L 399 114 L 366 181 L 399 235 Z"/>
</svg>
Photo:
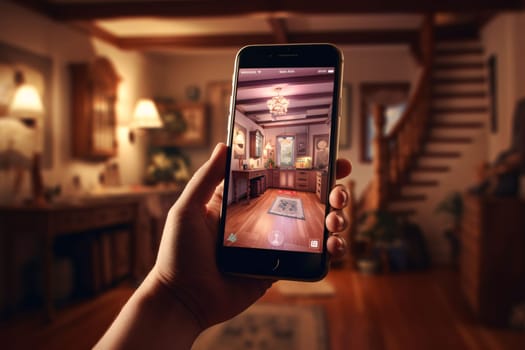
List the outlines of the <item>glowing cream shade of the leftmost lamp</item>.
<svg viewBox="0 0 525 350">
<path fill-rule="evenodd" d="M 15 117 L 30 119 L 37 119 L 44 114 L 42 99 L 33 85 L 22 84 L 15 90 L 9 113 Z"/>
</svg>

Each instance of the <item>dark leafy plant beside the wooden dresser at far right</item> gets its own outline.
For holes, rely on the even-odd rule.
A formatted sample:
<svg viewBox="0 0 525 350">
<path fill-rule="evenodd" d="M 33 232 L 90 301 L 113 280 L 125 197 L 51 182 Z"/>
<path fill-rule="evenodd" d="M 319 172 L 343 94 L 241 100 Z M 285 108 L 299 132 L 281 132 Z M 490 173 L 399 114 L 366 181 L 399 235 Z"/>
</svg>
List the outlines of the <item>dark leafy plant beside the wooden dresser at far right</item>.
<svg viewBox="0 0 525 350">
<path fill-rule="evenodd" d="M 444 213 L 450 218 L 450 227 L 445 229 L 444 235 L 450 243 L 450 252 L 452 264 L 457 267 L 460 242 L 459 233 L 461 227 L 461 218 L 463 217 L 463 197 L 460 192 L 449 193 L 436 206 L 436 213 Z"/>
</svg>

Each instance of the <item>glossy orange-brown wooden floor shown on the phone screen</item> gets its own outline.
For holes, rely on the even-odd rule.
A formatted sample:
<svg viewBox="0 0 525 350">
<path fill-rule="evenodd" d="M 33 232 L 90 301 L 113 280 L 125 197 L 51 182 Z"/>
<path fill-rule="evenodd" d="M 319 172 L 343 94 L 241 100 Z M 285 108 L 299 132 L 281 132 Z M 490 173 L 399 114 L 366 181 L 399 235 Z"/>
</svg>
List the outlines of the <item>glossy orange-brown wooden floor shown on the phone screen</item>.
<svg viewBox="0 0 525 350">
<path fill-rule="evenodd" d="M 277 196 L 299 199 L 304 220 L 269 213 Z M 225 245 L 319 252 L 322 249 L 324 210 L 325 206 L 315 193 L 268 189 L 249 202 L 243 200 L 228 206 Z M 235 242 L 228 241 L 229 233 L 235 233 Z M 317 241 L 318 245 L 312 248 L 311 240 Z"/>
</svg>

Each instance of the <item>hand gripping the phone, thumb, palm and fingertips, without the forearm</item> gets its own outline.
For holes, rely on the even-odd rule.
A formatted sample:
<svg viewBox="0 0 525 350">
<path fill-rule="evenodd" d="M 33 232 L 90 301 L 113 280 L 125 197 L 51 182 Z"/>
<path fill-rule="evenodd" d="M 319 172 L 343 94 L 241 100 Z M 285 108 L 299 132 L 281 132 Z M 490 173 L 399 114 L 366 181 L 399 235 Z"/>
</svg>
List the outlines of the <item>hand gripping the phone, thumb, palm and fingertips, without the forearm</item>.
<svg viewBox="0 0 525 350">
<path fill-rule="evenodd" d="M 191 310 L 202 328 L 237 315 L 271 286 L 272 281 L 225 276 L 216 266 L 215 249 L 219 211 L 222 204 L 222 180 L 226 146 L 219 144 L 187 184 L 168 214 L 154 267 L 158 279 Z M 348 161 L 339 160 L 337 176 L 351 171 Z M 326 225 L 331 232 L 345 229 L 341 209 L 348 193 L 338 185 L 330 194 L 332 211 Z M 334 256 L 344 254 L 342 238 L 332 236 L 328 250 Z"/>
</svg>

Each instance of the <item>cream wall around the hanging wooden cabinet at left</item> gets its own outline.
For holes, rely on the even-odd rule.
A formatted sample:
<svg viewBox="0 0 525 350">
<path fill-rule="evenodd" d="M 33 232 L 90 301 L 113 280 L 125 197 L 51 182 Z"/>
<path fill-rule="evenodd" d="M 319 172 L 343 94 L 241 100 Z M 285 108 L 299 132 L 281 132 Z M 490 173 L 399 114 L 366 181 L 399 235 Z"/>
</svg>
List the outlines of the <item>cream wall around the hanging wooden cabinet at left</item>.
<svg viewBox="0 0 525 350">
<path fill-rule="evenodd" d="M 52 59 L 52 135 L 53 168 L 44 170 L 46 185 L 62 184 L 70 189 L 74 175 L 82 184 L 94 187 L 103 163 L 85 162 L 71 156 L 71 115 L 69 74 L 71 62 L 86 62 L 97 55 L 107 56 L 122 80 L 118 90 L 117 117 L 119 154 L 123 184 L 141 182 L 144 169 L 143 139 L 135 144 L 128 141 L 127 121 L 138 97 L 150 95 L 148 61 L 140 53 L 122 51 L 94 40 L 84 33 L 42 17 L 10 2 L 0 2 L 0 41 Z M 137 156 L 138 155 L 138 156 Z M 6 174 L 0 174 L 6 176 Z M 26 177 L 28 180 L 28 177 Z M 5 194 L 6 182 L 0 181 L 0 194 Z M 28 181 L 25 191 L 28 191 Z"/>
</svg>

